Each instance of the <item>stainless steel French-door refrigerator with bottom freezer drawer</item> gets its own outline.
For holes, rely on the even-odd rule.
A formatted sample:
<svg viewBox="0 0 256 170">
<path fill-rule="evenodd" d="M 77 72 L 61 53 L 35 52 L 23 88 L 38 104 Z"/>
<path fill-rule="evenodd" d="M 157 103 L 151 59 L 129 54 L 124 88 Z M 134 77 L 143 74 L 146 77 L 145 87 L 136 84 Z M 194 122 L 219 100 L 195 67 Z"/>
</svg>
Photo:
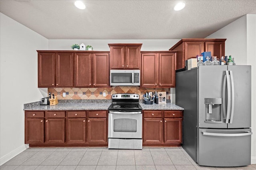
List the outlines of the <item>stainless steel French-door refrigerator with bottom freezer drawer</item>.
<svg viewBox="0 0 256 170">
<path fill-rule="evenodd" d="M 202 166 L 251 164 L 251 66 L 199 66 L 176 72 L 184 108 L 183 144 Z"/>
</svg>

